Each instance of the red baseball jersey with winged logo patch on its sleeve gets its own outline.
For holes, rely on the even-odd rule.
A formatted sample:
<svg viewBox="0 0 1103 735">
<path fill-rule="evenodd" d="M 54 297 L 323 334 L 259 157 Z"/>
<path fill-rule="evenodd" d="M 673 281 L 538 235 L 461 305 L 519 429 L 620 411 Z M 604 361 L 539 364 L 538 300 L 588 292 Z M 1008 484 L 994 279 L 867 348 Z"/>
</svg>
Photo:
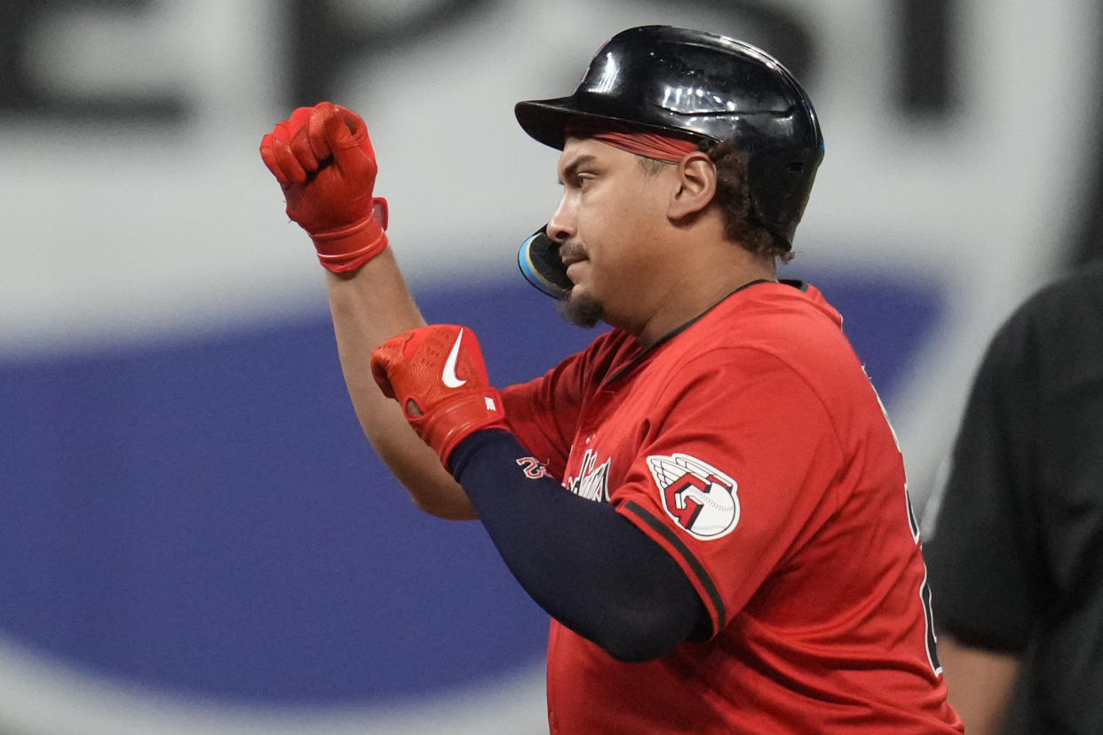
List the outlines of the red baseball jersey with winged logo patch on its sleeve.
<svg viewBox="0 0 1103 735">
<path fill-rule="evenodd" d="M 757 283 L 650 349 L 613 331 L 503 391 L 566 488 L 671 554 L 707 640 L 623 663 L 553 620 L 553 733 L 960 733 L 899 447 L 842 318 Z"/>
</svg>

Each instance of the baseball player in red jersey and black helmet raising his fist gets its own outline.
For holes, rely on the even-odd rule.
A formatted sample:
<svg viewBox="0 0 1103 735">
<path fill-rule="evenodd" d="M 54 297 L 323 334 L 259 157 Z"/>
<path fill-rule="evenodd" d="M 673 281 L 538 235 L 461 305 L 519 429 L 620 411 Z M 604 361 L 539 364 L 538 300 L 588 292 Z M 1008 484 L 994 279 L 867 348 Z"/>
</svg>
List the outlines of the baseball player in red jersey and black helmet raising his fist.
<svg viewBox="0 0 1103 735">
<path fill-rule="evenodd" d="M 753 46 L 644 26 L 515 112 L 563 151 L 522 271 L 613 329 L 501 391 L 403 284 L 363 120 L 299 109 L 260 150 L 331 271 L 368 439 L 553 618 L 550 731 L 961 732 L 892 431 L 838 313 L 777 275 L 823 155 L 804 90 Z"/>
</svg>

